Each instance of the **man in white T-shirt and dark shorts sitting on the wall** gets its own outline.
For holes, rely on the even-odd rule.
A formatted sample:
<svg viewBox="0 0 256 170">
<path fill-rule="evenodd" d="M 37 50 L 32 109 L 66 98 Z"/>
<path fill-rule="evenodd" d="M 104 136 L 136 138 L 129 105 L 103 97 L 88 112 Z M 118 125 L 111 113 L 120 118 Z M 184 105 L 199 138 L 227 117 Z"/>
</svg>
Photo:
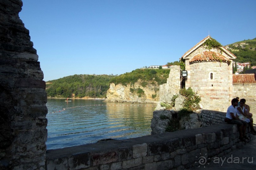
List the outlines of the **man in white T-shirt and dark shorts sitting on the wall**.
<svg viewBox="0 0 256 170">
<path fill-rule="evenodd" d="M 236 106 L 238 104 L 238 99 L 233 98 L 231 101 L 231 105 L 227 108 L 226 119 L 225 122 L 228 124 L 237 124 L 239 131 L 239 139 L 240 141 L 246 142 L 244 136 L 246 136 L 246 126 L 247 123 L 239 119 L 236 115 Z"/>
</svg>

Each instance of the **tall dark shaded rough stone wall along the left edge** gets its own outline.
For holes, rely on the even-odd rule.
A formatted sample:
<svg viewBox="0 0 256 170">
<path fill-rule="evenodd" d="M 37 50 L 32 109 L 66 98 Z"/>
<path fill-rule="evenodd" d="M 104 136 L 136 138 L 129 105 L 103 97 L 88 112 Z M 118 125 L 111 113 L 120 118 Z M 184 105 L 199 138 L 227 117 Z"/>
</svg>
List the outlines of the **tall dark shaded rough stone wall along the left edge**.
<svg viewBox="0 0 256 170">
<path fill-rule="evenodd" d="M 45 169 L 47 95 L 22 5 L 0 1 L 0 169 Z"/>
</svg>

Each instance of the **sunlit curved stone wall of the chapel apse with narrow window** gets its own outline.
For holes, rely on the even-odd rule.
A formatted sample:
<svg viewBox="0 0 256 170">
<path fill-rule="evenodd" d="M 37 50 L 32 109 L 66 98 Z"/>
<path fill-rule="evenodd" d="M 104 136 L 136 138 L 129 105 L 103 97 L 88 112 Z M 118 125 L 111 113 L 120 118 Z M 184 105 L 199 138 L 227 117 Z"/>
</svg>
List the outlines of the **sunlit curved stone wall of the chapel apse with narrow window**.
<svg viewBox="0 0 256 170">
<path fill-rule="evenodd" d="M 190 86 L 201 97 L 203 109 L 226 111 L 229 106 L 229 76 L 226 62 L 197 62 L 190 64 Z M 213 79 L 210 74 L 213 73 Z"/>
</svg>

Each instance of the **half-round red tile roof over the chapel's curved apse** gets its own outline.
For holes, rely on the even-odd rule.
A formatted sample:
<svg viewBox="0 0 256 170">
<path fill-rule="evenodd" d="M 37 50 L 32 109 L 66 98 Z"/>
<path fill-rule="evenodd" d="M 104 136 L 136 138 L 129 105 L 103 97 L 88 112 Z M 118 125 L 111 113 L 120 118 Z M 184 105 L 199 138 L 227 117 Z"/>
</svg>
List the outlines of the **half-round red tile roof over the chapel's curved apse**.
<svg viewBox="0 0 256 170">
<path fill-rule="evenodd" d="M 200 54 L 195 55 L 189 62 L 199 62 L 199 61 L 222 61 L 231 62 L 227 60 L 223 55 L 215 53 L 214 51 L 203 51 Z"/>
</svg>

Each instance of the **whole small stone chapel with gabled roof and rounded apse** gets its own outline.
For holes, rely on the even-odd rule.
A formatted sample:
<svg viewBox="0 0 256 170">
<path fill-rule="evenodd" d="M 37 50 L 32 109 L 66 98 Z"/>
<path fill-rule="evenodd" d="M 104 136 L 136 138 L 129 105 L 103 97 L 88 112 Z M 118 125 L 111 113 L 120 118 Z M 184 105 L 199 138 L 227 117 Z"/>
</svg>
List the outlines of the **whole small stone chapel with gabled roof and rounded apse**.
<svg viewBox="0 0 256 170">
<path fill-rule="evenodd" d="M 184 84 L 197 91 L 203 109 L 226 112 L 233 98 L 231 63 L 236 56 L 220 44 L 207 46 L 211 42 L 219 44 L 207 36 L 181 57 L 188 74 Z"/>
</svg>

